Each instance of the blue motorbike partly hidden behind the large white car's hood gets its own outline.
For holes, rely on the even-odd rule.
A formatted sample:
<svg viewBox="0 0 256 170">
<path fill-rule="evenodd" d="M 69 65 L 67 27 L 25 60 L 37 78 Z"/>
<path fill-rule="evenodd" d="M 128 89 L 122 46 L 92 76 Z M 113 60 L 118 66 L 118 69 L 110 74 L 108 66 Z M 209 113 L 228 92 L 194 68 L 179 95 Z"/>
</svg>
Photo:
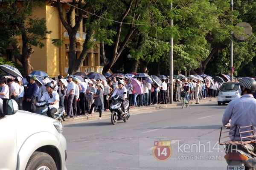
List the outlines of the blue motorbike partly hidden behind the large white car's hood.
<svg viewBox="0 0 256 170">
<path fill-rule="evenodd" d="M 36 102 L 35 103 L 35 106 L 36 106 L 35 113 L 47 116 L 48 107 L 45 108 L 45 106 L 49 106 L 49 105 L 50 105 L 50 103 L 47 101 Z M 60 106 L 58 108 L 58 111 L 56 113 L 54 113 L 54 119 L 57 120 L 58 122 L 61 122 L 62 126 L 63 126 L 63 121 L 65 121 L 64 112 L 65 112 L 64 107 Z"/>
</svg>

